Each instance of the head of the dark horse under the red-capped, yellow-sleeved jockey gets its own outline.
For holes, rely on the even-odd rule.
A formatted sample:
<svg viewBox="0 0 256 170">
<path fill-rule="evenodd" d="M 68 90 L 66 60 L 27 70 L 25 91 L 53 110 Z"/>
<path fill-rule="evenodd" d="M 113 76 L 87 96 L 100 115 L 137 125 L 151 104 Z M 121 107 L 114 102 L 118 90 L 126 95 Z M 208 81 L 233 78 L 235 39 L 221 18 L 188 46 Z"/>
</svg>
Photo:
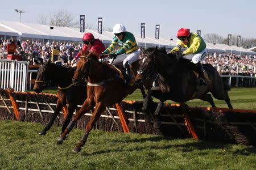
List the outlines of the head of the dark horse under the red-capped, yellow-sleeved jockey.
<svg viewBox="0 0 256 170">
<path fill-rule="evenodd" d="M 138 74 L 135 77 L 135 85 L 143 86 L 146 85 L 145 82 L 153 83 L 157 76 L 157 69 L 155 65 L 155 56 L 158 52 L 158 47 L 156 48 L 148 48 L 146 50 L 141 49 L 141 61 L 138 70 Z M 149 84 L 147 83 L 147 89 L 149 88 Z M 152 87 L 152 84 L 151 84 Z"/>
</svg>

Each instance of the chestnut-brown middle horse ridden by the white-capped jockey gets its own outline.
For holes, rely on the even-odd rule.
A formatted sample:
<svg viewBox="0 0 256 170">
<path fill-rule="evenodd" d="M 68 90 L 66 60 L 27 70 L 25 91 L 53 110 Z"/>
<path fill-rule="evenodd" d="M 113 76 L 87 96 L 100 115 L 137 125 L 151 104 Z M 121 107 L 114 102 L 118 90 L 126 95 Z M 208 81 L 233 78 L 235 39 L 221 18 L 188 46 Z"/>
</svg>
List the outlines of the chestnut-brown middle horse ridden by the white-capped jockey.
<svg viewBox="0 0 256 170">
<path fill-rule="evenodd" d="M 139 61 L 136 61 L 133 63 L 132 67 L 133 73 L 137 73 L 138 68 Z M 87 99 L 84 104 L 82 104 L 80 111 L 75 114 L 64 133 L 59 137 L 59 141 L 63 141 L 65 135 L 67 135 L 76 124 L 76 121 L 79 120 L 83 114 L 95 107 L 92 117 L 86 125 L 84 136 L 73 150 L 75 152 L 79 152 L 81 147 L 84 146 L 90 130 L 92 130 L 107 105 L 118 103 L 127 95 L 132 94 L 137 88 L 134 84 L 124 86 L 123 81 L 119 78 L 118 71 L 106 62 L 99 62 L 98 58 L 93 54 L 89 56 L 82 55 L 79 61 L 77 61 L 77 70 L 73 76 L 73 83 L 77 84 L 79 79 L 83 77 L 88 78 Z M 140 87 L 140 89 L 142 93 L 144 93 L 144 88 Z"/>
</svg>

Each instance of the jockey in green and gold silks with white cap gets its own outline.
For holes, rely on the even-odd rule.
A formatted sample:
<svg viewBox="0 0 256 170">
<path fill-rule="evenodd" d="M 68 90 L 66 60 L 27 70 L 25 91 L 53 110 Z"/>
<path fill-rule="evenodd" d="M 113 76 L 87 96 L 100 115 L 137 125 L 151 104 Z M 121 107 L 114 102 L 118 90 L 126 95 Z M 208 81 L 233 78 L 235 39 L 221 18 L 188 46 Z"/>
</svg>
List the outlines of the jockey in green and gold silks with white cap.
<svg viewBox="0 0 256 170">
<path fill-rule="evenodd" d="M 114 59 L 113 64 L 118 65 L 122 63 L 126 70 L 125 84 L 129 85 L 131 80 L 131 64 L 138 60 L 141 50 L 138 48 L 134 35 L 126 31 L 125 25 L 115 24 L 113 33 L 115 36 L 112 44 L 102 54 L 109 54 L 109 58 Z M 115 45 L 118 46 L 117 51 L 115 51 Z"/>
</svg>

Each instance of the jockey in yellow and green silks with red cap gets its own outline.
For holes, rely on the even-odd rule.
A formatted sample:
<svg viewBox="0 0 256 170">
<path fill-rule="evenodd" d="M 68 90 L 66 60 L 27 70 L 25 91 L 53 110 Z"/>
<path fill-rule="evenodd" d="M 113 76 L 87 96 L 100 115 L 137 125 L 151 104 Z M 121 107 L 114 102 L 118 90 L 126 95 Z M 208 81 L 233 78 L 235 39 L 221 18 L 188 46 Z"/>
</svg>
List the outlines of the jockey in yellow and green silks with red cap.
<svg viewBox="0 0 256 170">
<path fill-rule="evenodd" d="M 171 50 L 170 53 L 176 53 L 183 48 L 187 48 L 183 53 L 178 54 L 176 58 L 179 60 L 180 58 L 186 58 L 192 60 L 195 63 L 197 70 L 199 70 L 199 76 L 201 78 L 200 85 L 206 85 L 205 76 L 204 76 L 204 68 L 201 65 L 201 59 L 204 59 L 207 56 L 206 44 L 203 38 L 196 33 L 190 32 L 188 28 L 180 28 L 177 31 L 177 45 Z"/>
</svg>

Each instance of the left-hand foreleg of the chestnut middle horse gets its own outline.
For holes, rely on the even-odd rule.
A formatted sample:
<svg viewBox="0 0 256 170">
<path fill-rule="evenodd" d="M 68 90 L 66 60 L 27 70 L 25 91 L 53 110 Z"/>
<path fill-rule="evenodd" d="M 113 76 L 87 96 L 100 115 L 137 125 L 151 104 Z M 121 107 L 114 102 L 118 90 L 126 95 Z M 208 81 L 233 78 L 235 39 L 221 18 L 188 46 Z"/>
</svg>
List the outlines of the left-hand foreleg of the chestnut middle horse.
<svg viewBox="0 0 256 170">
<path fill-rule="evenodd" d="M 61 145 L 63 143 L 63 140 L 65 139 L 66 135 L 73 129 L 73 127 L 76 124 L 76 121 L 79 120 L 79 118 L 84 115 L 85 112 L 88 112 L 92 108 L 92 103 L 89 103 L 89 101 L 86 99 L 84 104 L 82 104 L 81 109 L 79 112 L 75 114 L 73 117 L 73 120 L 69 122 L 67 128 L 64 130 L 63 133 L 60 134 L 60 137 L 58 139 L 57 145 Z"/>
</svg>

